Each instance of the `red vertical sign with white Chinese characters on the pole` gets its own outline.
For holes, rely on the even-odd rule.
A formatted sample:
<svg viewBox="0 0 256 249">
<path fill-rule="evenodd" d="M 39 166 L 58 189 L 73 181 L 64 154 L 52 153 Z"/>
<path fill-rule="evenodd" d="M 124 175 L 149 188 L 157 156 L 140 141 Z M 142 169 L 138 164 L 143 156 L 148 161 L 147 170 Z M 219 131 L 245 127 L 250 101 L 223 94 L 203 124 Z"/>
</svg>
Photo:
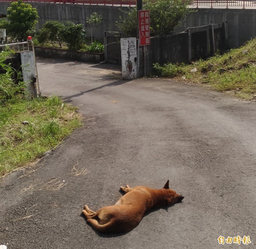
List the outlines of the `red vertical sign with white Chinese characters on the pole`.
<svg viewBox="0 0 256 249">
<path fill-rule="evenodd" d="M 140 46 L 150 44 L 149 10 L 139 10 Z"/>
</svg>

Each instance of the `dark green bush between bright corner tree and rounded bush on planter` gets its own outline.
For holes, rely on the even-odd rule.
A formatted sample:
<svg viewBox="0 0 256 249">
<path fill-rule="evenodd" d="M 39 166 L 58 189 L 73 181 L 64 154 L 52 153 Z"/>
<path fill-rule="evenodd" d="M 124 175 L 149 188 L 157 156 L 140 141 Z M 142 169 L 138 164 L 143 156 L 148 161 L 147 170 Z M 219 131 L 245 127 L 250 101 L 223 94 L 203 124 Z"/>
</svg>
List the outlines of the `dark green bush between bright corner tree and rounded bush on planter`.
<svg viewBox="0 0 256 249">
<path fill-rule="evenodd" d="M 62 34 L 64 29 L 65 26 L 61 22 L 47 21 L 44 23 L 42 29 L 39 30 L 39 35 L 37 36 L 39 43 L 49 42 L 52 44 L 52 47 L 57 43 L 62 48 Z"/>
</svg>

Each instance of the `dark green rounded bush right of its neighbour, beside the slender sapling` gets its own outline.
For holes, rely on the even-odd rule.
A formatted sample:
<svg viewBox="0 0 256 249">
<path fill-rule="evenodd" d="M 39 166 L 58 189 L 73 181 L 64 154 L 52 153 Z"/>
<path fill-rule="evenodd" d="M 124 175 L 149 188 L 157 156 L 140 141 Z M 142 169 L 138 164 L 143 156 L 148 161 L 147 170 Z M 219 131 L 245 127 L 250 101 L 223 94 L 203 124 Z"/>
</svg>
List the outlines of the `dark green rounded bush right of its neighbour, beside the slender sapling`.
<svg viewBox="0 0 256 249">
<path fill-rule="evenodd" d="M 86 32 L 83 24 L 66 22 L 65 27 L 60 32 L 63 41 L 67 43 L 69 49 L 79 50 L 84 45 Z"/>
</svg>

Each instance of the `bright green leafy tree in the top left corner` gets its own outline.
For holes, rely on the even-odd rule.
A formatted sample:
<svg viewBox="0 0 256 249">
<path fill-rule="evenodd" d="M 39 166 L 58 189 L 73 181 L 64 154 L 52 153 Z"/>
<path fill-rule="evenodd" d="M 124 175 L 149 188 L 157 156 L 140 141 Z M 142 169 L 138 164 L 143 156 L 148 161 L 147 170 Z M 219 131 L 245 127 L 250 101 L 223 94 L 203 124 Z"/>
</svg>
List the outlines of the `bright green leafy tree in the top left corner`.
<svg viewBox="0 0 256 249">
<path fill-rule="evenodd" d="M 37 10 L 22 0 L 12 2 L 7 8 L 9 35 L 18 41 L 26 40 L 28 35 L 35 35 L 35 24 L 39 18 Z"/>
</svg>

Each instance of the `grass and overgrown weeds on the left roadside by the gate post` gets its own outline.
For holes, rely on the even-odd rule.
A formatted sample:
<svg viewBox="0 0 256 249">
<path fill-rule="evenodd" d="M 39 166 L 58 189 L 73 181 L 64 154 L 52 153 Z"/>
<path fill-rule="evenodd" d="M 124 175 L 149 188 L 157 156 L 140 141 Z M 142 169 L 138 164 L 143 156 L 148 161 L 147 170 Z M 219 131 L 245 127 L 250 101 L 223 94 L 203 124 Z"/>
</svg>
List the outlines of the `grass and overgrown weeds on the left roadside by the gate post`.
<svg viewBox="0 0 256 249">
<path fill-rule="evenodd" d="M 34 162 L 81 126 L 77 108 L 57 96 L 23 98 L 23 82 L 15 85 L 13 69 L 4 64 L 11 53 L 0 53 L 0 67 L 6 70 L 0 74 L 0 176 Z"/>
</svg>

